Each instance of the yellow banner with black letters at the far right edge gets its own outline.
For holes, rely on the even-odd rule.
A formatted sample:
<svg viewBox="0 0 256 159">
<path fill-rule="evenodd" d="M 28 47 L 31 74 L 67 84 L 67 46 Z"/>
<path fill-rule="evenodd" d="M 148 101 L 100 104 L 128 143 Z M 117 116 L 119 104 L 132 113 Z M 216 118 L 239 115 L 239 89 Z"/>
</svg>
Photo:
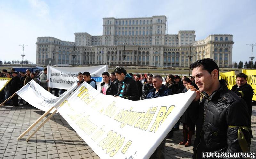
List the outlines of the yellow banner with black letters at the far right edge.
<svg viewBox="0 0 256 159">
<path fill-rule="evenodd" d="M 247 83 L 252 86 L 254 92 L 252 100 L 256 100 L 256 70 L 243 69 L 242 73 L 247 75 Z"/>
</svg>

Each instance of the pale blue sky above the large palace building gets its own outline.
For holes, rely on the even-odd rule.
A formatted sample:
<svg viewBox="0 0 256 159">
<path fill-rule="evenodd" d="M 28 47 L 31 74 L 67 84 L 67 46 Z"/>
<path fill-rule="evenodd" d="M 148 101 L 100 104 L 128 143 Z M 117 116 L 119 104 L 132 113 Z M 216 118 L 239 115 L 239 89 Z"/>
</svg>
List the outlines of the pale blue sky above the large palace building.
<svg viewBox="0 0 256 159">
<path fill-rule="evenodd" d="M 52 36 L 74 41 L 75 32 L 102 35 L 102 18 L 169 17 L 168 34 L 195 30 L 196 40 L 210 34 L 232 34 L 233 62 L 249 61 L 256 43 L 255 0 L 2 0 L 0 60 L 36 62 L 36 38 Z M 256 47 L 254 47 L 256 57 Z"/>
</svg>

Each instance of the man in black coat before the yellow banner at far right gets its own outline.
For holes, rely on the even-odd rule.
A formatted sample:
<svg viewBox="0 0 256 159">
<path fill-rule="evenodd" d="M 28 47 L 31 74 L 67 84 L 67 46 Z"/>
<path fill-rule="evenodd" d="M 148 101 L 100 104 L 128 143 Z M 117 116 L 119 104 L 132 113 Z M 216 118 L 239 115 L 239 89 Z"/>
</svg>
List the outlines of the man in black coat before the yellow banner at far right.
<svg viewBox="0 0 256 159">
<path fill-rule="evenodd" d="M 247 75 L 245 75 L 244 73 L 237 74 L 236 85 L 232 87 L 231 91 L 235 92 L 239 97 L 244 99 L 245 103 L 248 106 L 248 113 L 250 117 L 252 117 L 252 97 L 254 92 L 253 92 L 252 86 L 247 84 Z M 250 130 L 250 134 L 252 138 L 251 130 Z"/>
</svg>

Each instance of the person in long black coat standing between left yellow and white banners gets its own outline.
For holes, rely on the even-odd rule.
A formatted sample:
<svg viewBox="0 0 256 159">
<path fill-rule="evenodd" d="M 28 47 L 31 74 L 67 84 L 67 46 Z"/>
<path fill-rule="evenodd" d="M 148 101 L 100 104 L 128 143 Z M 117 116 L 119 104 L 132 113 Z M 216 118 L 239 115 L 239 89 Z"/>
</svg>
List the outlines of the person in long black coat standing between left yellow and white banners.
<svg viewBox="0 0 256 159">
<path fill-rule="evenodd" d="M 12 81 L 10 84 L 10 95 L 13 95 L 16 91 L 20 89 L 21 83 L 20 83 L 20 78 L 18 77 L 18 72 L 13 72 L 12 73 Z M 17 107 L 18 106 L 18 95 L 16 94 L 14 97 L 12 97 L 13 100 L 13 106 Z"/>
</svg>

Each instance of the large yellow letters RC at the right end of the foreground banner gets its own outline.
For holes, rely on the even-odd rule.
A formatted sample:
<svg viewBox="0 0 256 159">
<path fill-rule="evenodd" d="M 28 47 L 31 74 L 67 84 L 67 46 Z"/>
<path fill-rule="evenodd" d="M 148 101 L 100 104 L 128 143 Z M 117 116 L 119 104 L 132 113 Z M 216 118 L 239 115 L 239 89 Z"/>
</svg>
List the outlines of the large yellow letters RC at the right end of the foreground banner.
<svg viewBox="0 0 256 159">
<path fill-rule="evenodd" d="M 154 124 L 152 125 L 150 132 L 154 133 L 158 130 L 159 126 L 164 122 L 164 120 L 167 118 L 167 116 L 172 112 L 173 108 L 175 106 L 172 105 L 168 108 L 167 112 L 166 112 L 166 106 L 162 106 L 156 116 L 156 120 L 154 122 Z"/>
</svg>

